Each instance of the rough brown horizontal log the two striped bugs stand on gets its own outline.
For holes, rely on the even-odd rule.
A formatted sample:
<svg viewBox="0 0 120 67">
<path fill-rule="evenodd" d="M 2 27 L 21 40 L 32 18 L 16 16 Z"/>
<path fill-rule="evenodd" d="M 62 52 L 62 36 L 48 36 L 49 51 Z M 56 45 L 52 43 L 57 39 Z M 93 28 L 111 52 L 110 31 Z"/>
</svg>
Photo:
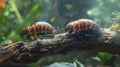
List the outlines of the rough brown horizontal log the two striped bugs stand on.
<svg viewBox="0 0 120 67">
<path fill-rule="evenodd" d="M 76 33 L 62 33 L 48 39 L 4 45 L 0 49 L 0 62 L 9 60 L 15 63 L 32 63 L 43 57 L 66 54 L 73 50 L 120 54 L 119 33 L 105 29 L 99 38 L 88 37 L 89 40 L 84 40 Z"/>
</svg>

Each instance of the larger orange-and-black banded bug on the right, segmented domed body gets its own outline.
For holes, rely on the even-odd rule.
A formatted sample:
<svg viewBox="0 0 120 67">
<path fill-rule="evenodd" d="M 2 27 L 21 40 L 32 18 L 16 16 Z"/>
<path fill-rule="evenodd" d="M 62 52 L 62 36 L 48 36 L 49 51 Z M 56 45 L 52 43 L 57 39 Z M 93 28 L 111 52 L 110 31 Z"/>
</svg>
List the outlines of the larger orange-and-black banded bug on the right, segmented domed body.
<svg viewBox="0 0 120 67">
<path fill-rule="evenodd" d="M 89 31 L 99 31 L 100 28 L 98 24 L 90 19 L 80 19 L 74 22 L 70 22 L 66 25 L 66 32 L 89 32 Z"/>
</svg>

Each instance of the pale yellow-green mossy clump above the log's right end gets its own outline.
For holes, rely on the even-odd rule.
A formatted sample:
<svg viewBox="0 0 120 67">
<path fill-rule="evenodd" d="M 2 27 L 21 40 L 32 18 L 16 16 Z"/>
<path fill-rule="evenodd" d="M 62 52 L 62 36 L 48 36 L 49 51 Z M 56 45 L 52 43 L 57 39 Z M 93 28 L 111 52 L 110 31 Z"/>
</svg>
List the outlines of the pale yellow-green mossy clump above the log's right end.
<svg viewBox="0 0 120 67">
<path fill-rule="evenodd" d="M 120 12 L 115 12 L 114 13 L 114 18 L 113 18 L 113 24 L 110 27 L 111 30 L 116 31 L 116 32 L 120 32 Z"/>
</svg>

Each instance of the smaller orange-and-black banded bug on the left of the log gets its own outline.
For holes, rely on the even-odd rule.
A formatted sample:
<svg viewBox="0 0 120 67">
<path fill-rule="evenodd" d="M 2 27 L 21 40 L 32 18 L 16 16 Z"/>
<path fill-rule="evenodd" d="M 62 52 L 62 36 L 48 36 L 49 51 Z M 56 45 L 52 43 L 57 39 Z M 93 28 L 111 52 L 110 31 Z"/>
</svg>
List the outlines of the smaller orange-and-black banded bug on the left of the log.
<svg viewBox="0 0 120 67">
<path fill-rule="evenodd" d="M 35 24 L 23 28 L 20 36 L 31 36 L 31 35 L 45 35 L 52 34 L 54 28 L 47 22 L 36 22 Z"/>
</svg>

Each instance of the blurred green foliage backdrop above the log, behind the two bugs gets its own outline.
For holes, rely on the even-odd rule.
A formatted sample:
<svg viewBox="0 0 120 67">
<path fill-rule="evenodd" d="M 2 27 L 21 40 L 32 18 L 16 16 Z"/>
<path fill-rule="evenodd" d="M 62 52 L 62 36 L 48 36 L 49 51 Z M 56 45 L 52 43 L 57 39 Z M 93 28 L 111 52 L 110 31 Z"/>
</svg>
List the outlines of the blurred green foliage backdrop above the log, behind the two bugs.
<svg viewBox="0 0 120 67">
<path fill-rule="evenodd" d="M 112 12 L 119 11 L 118 3 L 119 0 L 8 0 L 0 15 L 0 43 L 21 40 L 18 36 L 21 28 L 37 21 L 51 23 L 58 32 L 63 32 L 61 27 L 69 21 L 80 18 L 90 18 L 101 27 L 109 27 L 113 23 Z"/>
</svg>

